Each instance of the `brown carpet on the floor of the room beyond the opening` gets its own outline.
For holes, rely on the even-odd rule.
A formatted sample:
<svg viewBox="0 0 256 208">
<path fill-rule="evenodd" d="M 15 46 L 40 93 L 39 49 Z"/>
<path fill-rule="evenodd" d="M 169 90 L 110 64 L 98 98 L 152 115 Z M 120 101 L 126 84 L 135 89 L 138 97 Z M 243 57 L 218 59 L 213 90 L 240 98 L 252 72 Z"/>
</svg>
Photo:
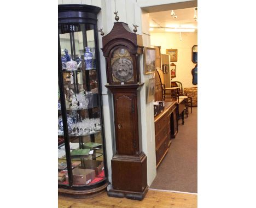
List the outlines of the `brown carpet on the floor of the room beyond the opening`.
<svg viewBox="0 0 256 208">
<path fill-rule="evenodd" d="M 184 121 L 150 188 L 197 193 L 197 107 Z"/>
</svg>

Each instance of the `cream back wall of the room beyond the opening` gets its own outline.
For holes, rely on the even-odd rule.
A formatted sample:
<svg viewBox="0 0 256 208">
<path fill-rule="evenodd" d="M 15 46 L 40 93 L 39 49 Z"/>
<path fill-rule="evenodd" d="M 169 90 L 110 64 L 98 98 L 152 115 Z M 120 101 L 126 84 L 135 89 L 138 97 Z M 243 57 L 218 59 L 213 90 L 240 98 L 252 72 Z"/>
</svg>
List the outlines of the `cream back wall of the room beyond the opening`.
<svg viewBox="0 0 256 208">
<path fill-rule="evenodd" d="M 197 45 L 197 33 L 182 33 L 182 41 L 179 33 L 152 33 L 150 35 L 151 45 L 161 46 L 161 53 L 166 54 L 166 49 L 178 49 L 178 61 L 176 64 L 176 77 L 172 81 L 182 82 L 185 87 L 197 87 L 192 84 L 191 70 L 195 64 L 191 61 L 191 48 Z"/>
</svg>

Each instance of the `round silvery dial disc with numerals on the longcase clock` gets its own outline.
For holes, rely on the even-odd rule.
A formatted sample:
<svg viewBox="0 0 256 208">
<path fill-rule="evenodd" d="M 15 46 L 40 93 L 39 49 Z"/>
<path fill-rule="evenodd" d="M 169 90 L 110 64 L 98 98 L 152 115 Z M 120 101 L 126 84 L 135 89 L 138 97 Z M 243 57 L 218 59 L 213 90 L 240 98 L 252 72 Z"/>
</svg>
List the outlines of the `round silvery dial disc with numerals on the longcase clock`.
<svg viewBox="0 0 256 208">
<path fill-rule="evenodd" d="M 121 57 L 112 65 L 113 76 L 121 82 L 127 82 L 133 77 L 132 61 Z"/>
</svg>

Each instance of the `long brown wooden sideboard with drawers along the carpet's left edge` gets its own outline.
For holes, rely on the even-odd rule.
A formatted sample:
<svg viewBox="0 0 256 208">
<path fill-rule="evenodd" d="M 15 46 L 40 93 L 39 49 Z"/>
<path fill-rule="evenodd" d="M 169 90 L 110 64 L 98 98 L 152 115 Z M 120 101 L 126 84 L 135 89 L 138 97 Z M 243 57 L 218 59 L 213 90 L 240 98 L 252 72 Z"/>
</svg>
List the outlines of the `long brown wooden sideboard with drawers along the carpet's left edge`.
<svg viewBox="0 0 256 208">
<path fill-rule="evenodd" d="M 168 152 L 171 138 L 178 132 L 176 101 L 165 102 L 164 111 L 155 117 L 155 155 L 156 168 Z"/>
</svg>

